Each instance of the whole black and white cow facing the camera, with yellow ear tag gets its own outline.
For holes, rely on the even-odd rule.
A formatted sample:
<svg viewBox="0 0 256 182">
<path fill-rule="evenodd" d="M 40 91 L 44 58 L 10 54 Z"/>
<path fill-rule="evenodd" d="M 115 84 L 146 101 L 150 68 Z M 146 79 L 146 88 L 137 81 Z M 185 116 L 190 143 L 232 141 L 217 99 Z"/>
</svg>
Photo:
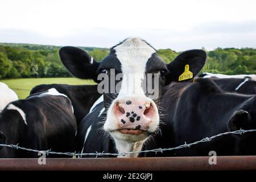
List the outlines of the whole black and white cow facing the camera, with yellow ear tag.
<svg viewBox="0 0 256 182">
<path fill-rule="evenodd" d="M 195 76 L 205 63 L 206 53 L 198 49 L 185 51 L 172 63 L 165 64 L 150 44 L 140 38 L 127 38 L 112 47 L 100 63 L 75 47 L 61 48 L 60 58 L 79 78 L 100 82 L 97 79 L 100 73 L 108 77 L 122 73 L 122 81 L 114 81 L 114 86 L 120 84 L 119 92 L 104 92 L 103 102 L 82 119 L 77 132 L 77 151 L 131 152 L 141 150 L 143 143 L 158 131 L 158 106 L 164 85 L 179 80 L 188 67 Z M 154 86 L 159 86 L 159 94 L 154 100 L 142 88 L 144 75 L 150 73 L 158 75 Z"/>
</svg>

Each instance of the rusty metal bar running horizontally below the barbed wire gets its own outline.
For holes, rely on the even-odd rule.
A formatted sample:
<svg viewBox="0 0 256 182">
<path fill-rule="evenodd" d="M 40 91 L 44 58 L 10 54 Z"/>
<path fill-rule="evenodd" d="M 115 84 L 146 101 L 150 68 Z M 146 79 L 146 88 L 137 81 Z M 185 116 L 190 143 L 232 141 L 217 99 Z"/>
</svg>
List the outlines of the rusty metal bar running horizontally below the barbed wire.
<svg viewBox="0 0 256 182">
<path fill-rule="evenodd" d="M 46 159 L 46 165 L 38 159 L 0 159 L 0 170 L 101 170 L 101 171 L 211 171 L 256 170 L 256 156 L 218 156 L 217 164 L 209 164 L 209 156 L 175 158 L 90 158 Z"/>
</svg>

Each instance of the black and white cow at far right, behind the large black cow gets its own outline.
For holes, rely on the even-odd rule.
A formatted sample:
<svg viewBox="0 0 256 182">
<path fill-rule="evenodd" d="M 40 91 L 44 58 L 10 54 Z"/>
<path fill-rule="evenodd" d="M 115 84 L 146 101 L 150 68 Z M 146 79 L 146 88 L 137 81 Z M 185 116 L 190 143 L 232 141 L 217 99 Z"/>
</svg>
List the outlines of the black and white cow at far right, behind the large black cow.
<svg viewBox="0 0 256 182">
<path fill-rule="evenodd" d="M 225 75 L 222 78 L 218 76 L 219 74 L 217 74 L 218 77 L 215 76 L 216 74 L 207 74 L 210 73 L 203 73 L 199 77 L 212 79 L 225 92 L 256 94 L 255 75 Z"/>
</svg>

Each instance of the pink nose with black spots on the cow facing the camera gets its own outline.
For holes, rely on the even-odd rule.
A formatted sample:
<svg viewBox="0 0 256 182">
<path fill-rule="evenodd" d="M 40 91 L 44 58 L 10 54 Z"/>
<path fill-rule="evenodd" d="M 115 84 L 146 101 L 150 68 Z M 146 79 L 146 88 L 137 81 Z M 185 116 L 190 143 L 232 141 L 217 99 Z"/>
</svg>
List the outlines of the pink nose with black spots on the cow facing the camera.
<svg viewBox="0 0 256 182">
<path fill-rule="evenodd" d="M 148 101 L 116 101 L 113 111 L 118 121 L 118 130 L 123 134 L 147 131 L 156 114 L 156 109 Z"/>
</svg>

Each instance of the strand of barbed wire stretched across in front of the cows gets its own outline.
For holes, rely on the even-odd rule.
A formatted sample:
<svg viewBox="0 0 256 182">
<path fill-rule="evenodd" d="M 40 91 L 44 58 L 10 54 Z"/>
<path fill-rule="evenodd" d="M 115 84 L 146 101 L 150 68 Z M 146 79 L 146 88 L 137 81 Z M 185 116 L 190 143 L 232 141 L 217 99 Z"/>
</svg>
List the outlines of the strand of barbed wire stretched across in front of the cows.
<svg viewBox="0 0 256 182">
<path fill-rule="evenodd" d="M 249 132 L 255 132 L 256 130 L 243 130 L 243 129 L 240 129 L 240 130 L 236 130 L 236 131 L 228 131 L 228 132 L 225 132 L 225 133 L 220 133 L 220 134 L 217 134 L 217 135 L 214 135 L 212 137 L 205 137 L 201 140 L 198 140 L 196 142 L 193 142 L 193 143 L 186 143 L 184 142 L 184 144 L 181 144 L 180 146 L 177 146 L 177 147 L 173 147 L 173 148 L 155 148 L 155 149 L 152 149 L 152 150 L 143 150 L 143 151 L 133 151 L 133 152 L 121 152 L 121 153 L 108 153 L 108 152 L 95 152 L 95 153 L 76 153 L 75 152 L 55 152 L 55 151 L 51 151 L 51 149 L 49 150 L 45 150 L 45 151 L 40 151 L 40 150 L 35 150 L 35 149 L 31 149 L 31 148 L 25 148 L 25 147 L 20 147 L 19 144 L 0 144 L 1 147 L 10 147 L 10 148 L 15 148 L 16 150 L 25 150 L 25 151 L 30 151 L 30 152 L 36 152 L 36 153 L 41 153 L 41 154 L 46 154 L 46 155 L 49 155 L 49 154 L 57 154 L 57 155 L 68 155 L 68 156 L 84 156 L 84 155 L 94 155 L 96 156 L 103 156 L 103 155 L 113 155 L 113 156 L 126 156 L 126 155 L 130 155 L 130 154 L 140 154 L 140 153 L 148 153 L 148 152 L 161 152 L 163 153 L 164 151 L 171 151 L 171 150 L 177 150 L 177 149 L 180 149 L 180 148 L 188 148 L 188 147 L 191 147 L 195 144 L 199 144 L 199 143 L 203 143 L 203 142 L 210 142 L 212 139 L 215 139 L 215 138 L 218 138 L 218 137 L 221 137 L 223 135 L 230 135 L 230 134 L 236 134 L 236 135 L 242 135 L 242 134 L 245 134 L 245 133 L 249 133 Z"/>
</svg>

